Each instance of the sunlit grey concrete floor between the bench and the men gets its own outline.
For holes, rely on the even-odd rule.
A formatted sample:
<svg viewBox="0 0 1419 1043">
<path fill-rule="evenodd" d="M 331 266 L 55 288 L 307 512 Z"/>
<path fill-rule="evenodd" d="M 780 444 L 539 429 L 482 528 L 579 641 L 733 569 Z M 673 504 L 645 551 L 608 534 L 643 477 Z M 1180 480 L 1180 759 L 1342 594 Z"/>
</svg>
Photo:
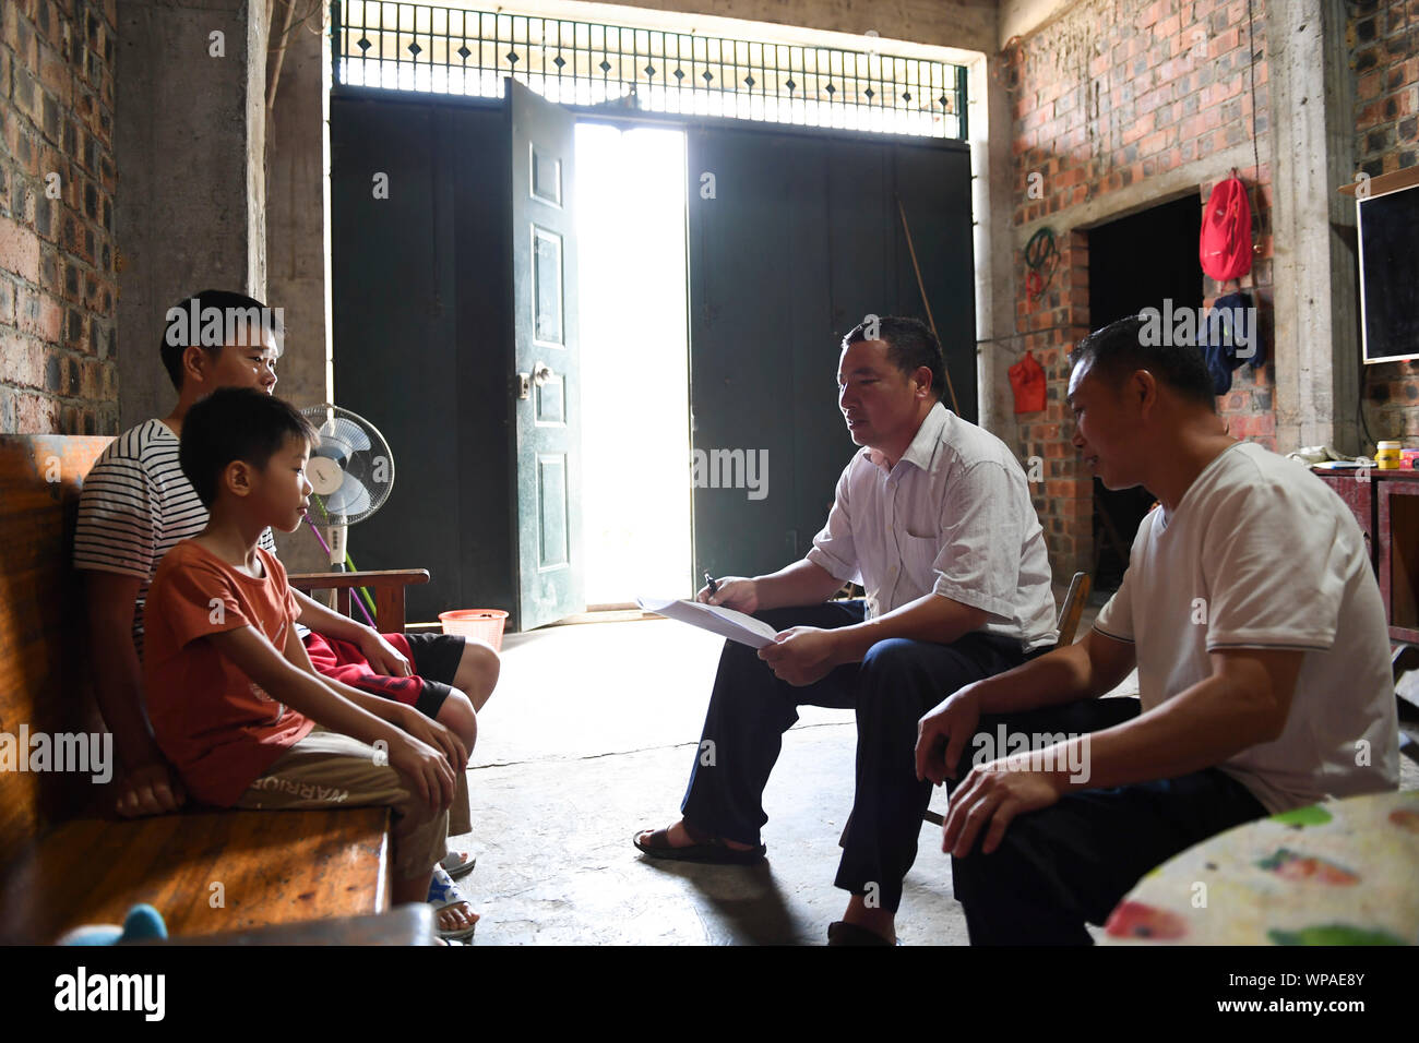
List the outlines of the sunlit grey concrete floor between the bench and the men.
<svg viewBox="0 0 1419 1043">
<path fill-rule="evenodd" d="M 1087 627 L 1097 609 L 1081 623 Z M 805 707 L 765 792 L 766 866 L 691 866 L 631 847 L 678 817 L 719 639 L 670 620 L 512 634 L 470 768 L 484 945 L 822 944 L 841 915 L 837 837 L 853 802 L 851 711 Z M 1131 677 L 1120 694 L 1137 694 Z M 1405 789 L 1419 771 L 1405 759 Z M 932 805 L 944 806 L 944 793 Z M 905 944 L 966 944 L 938 826 L 905 881 Z"/>
</svg>

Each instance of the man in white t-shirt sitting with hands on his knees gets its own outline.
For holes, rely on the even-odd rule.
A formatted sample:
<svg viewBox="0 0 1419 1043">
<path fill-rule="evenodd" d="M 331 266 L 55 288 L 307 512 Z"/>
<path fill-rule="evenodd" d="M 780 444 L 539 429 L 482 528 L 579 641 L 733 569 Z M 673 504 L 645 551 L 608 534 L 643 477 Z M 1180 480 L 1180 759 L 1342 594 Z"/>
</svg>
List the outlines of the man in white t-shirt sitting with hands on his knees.
<svg viewBox="0 0 1419 1043">
<path fill-rule="evenodd" d="M 1208 836 L 1399 782 L 1359 526 L 1303 465 L 1229 437 L 1200 353 L 1142 325 L 1080 342 L 1069 387 L 1084 463 L 1161 504 L 1122 586 L 1074 646 L 921 719 L 918 773 L 958 783 L 942 850 L 972 944 L 1087 944 L 1086 921 Z M 1098 698 L 1135 664 L 1137 701 Z M 1002 736 L 972 768 L 968 745 Z"/>
</svg>

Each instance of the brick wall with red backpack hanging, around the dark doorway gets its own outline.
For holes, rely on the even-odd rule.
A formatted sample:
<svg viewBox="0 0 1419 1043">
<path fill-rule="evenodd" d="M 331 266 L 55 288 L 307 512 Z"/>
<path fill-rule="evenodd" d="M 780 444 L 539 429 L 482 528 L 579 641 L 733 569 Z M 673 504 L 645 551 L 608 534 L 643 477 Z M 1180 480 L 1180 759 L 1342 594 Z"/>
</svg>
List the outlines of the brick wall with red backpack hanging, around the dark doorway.
<svg viewBox="0 0 1419 1043">
<path fill-rule="evenodd" d="M 1273 0 L 1274 1 L 1274 0 Z M 1266 3 L 1253 0 L 1254 68 L 1260 155 L 1267 138 Z M 1200 207 L 1229 167 L 1230 155 L 1252 186 L 1260 253 L 1242 288 L 1264 309 L 1271 299 L 1271 243 L 1266 214 L 1270 170 L 1252 159 L 1252 79 L 1246 0 L 1086 0 L 1002 53 L 1000 74 L 1012 105 L 1016 267 L 1042 224 L 1060 250 L 1046 294 L 1032 301 L 1017 281 L 1015 345 L 1030 348 L 1049 376 L 1044 413 L 1019 416 L 1022 458 L 1044 461 L 1034 505 L 1044 525 L 1056 575 L 1093 568 L 1093 480 L 1069 444 L 1073 423 L 1064 404 L 1066 355 L 1090 328 L 1088 233 L 1098 224 L 1164 203 L 1182 190 Z M 1244 153 L 1240 162 L 1239 149 Z M 1039 175 L 1033 177 L 1032 175 Z M 1036 186 L 1032 199 L 1032 183 Z M 1149 199 L 1147 186 L 1156 184 Z M 1139 187 L 1142 186 L 1142 187 Z M 1142 192 L 1142 196 L 1139 194 Z M 1111 207 L 1117 199 L 1117 211 Z M 1139 243 L 1141 258 L 1159 244 Z M 1196 251 L 1196 243 L 1169 248 Z M 1219 294 L 1203 281 L 1206 304 Z M 1219 399 L 1229 430 L 1276 448 L 1269 363 L 1242 366 L 1232 392 Z"/>
</svg>

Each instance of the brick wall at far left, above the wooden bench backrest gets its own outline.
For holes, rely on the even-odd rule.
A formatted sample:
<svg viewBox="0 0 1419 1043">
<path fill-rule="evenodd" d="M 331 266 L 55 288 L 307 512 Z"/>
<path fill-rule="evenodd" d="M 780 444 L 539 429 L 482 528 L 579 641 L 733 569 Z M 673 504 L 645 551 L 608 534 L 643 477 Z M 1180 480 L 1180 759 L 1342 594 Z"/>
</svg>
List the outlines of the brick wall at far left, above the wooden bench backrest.
<svg viewBox="0 0 1419 1043">
<path fill-rule="evenodd" d="M 0 433 L 112 434 L 115 0 L 0 4 Z"/>
</svg>

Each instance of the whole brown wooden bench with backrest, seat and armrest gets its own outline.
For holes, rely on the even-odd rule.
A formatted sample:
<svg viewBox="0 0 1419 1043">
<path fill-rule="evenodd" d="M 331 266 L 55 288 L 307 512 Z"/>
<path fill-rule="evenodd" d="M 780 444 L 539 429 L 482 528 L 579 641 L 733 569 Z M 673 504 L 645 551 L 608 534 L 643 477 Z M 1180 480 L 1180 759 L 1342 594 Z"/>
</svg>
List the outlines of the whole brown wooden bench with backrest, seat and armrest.
<svg viewBox="0 0 1419 1043">
<path fill-rule="evenodd" d="M 84 475 L 108 443 L 0 437 L 0 732 L 11 751 L 21 728 L 105 732 L 71 549 Z M 302 580 L 322 586 L 319 576 Z M 427 573 L 349 573 L 324 586 L 375 586 L 389 613 L 382 629 L 397 629 L 403 599 L 387 587 L 403 582 Z M 152 904 L 175 937 L 389 908 L 386 809 L 187 807 L 125 820 L 112 806 L 112 783 L 91 773 L 0 771 L 0 942 L 47 944 L 81 924 L 118 924 L 133 903 Z"/>
</svg>

